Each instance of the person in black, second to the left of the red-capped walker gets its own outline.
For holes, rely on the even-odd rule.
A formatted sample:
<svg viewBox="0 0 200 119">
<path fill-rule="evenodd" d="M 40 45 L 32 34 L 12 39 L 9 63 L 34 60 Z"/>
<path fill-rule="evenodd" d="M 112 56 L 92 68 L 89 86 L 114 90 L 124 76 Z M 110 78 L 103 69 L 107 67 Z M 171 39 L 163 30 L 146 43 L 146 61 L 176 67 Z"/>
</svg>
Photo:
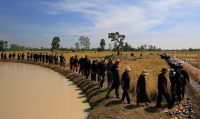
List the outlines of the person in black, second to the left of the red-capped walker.
<svg viewBox="0 0 200 119">
<path fill-rule="evenodd" d="M 105 72 L 106 72 L 106 61 L 104 58 L 102 58 L 101 62 L 98 65 L 99 88 L 103 88 L 103 84 L 105 80 Z"/>
</svg>

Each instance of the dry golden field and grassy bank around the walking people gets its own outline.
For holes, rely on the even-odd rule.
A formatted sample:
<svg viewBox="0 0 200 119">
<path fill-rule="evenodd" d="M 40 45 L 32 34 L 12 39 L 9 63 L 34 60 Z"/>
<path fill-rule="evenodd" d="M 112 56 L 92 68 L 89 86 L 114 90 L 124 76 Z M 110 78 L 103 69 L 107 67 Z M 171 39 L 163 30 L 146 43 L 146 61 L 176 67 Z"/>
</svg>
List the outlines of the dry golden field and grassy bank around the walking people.
<svg viewBox="0 0 200 119">
<path fill-rule="evenodd" d="M 9 54 L 10 52 L 7 52 Z M 13 52 L 12 52 L 13 53 Z M 18 52 L 16 52 L 18 53 Z M 22 52 L 20 52 L 22 53 Z M 38 52 L 40 53 L 40 52 Z M 46 52 L 41 52 L 41 53 L 46 53 Z M 51 52 L 47 52 L 48 54 L 51 54 Z M 131 57 L 130 53 L 131 52 L 125 52 L 123 53 L 124 55 L 122 56 L 116 56 L 113 55 L 113 52 L 80 52 L 80 53 L 66 53 L 66 52 L 58 52 L 58 55 L 64 54 L 64 57 L 67 60 L 67 68 L 65 69 L 66 72 L 68 72 L 67 69 L 69 69 L 69 58 L 72 55 L 78 55 L 80 58 L 83 55 L 88 55 L 90 57 L 90 60 L 95 60 L 96 58 L 100 59 L 102 57 L 105 57 L 106 60 L 109 57 L 112 57 L 113 59 L 115 58 L 120 58 L 122 62 L 120 63 L 120 74 L 124 72 L 124 68 L 126 66 L 131 67 L 131 72 L 130 72 L 130 77 L 131 77 L 131 90 L 129 92 L 131 101 L 133 102 L 133 105 L 128 105 L 125 104 L 119 99 L 113 98 L 114 97 L 114 91 L 110 94 L 109 99 L 105 100 L 105 96 L 107 94 L 107 82 L 105 81 L 105 87 L 104 89 L 99 89 L 97 83 L 91 82 L 87 79 L 85 79 L 84 76 L 77 77 L 76 75 L 74 77 L 67 77 L 71 79 L 73 82 L 75 82 L 83 92 L 87 96 L 87 101 L 90 102 L 91 107 L 93 108 L 90 113 L 88 118 L 89 119 L 94 119 L 94 118 L 100 118 L 100 119 L 105 119 L 105 118 L 110 118 L 110 119 L 144 119 L 144 118 L 154 118 L 154 119 L 165 119 L 167 118 L 166 114 L 162 114 L 161 109 L 155 108 L 155 101 L 157 97 L 157 77 L 161 71 L 162 68 L 167 68 L 169 69 L 170 67 L 166 63 L 165 60 L 160 59 L 158 54 L 163 54 L 164 52 L 134 52 L 135 57 Z M 140 59 L 140 54 L 143 54 L 142 58 Z M 150 53 L 153 53 L 153 55 Z M 54 54 L 54 53 L 53 53 Z M 127 55 L 126 55 L 127 54 Z M 21 62 L 21 61 L 20 61 Z M 63 75 L 66 75 L 64 73 L 63 69 L 60 69 L 59 66 L 55 65 L 49 65 L 49 64 L 42 64 L 39 63 L 41 66 L 45 66 L 48 68 L 51 68 L 55 71 L 58 71 L 62 73 Z M 141 104 L 141 107 L 137 108 L 136 106 L 136 83 L 137 79 L 140 75 L 140 72 L 146 69 L 147 72 L 150 74 L 146 77 L 146 85 L 147 85 L 147 92 L 149 96 L 151 97 L 151 100 L 153 101 L 149 106 L 144 106 L 144 104 Z M 75 73 L 76 74 L 76 73 Z M 71 75 L 71 74 L 70 74 Z M 166 77 L 168 78 L 168 74 Z M 170 92 L 170 81 L 168 78 L 168 89 Z M 198 95 L 196 95 L 196 92 L 191 88 L 190 85 L 188 85 L 187 89 L 187 95 L 189 94 L 190 97 L 193 97 L 195 99 L 198 99 Z M 120 88 L 120 96 L 122 93 L 122 89 Z M 170 94 L 171 95 L 171 94 Z M 184 100 L 186 102 L 186 100 Z M 199 102 L 196 103 L 198 106 L 200 105 Z M 195 106 L 197 109 L 197 112 L 199 110 L 199 107 Z M 163 100 L 162 102 L 162 107 L 167 107 L 166 101 Z M 196 111 L 195 109 L 195 111 Z M 173 109 L 174 110 L 174 109 Z M 171 110 L 172 111 L 172 110 Z M 199 115 L 197 114 L 197 118 Z"/>
</svg>

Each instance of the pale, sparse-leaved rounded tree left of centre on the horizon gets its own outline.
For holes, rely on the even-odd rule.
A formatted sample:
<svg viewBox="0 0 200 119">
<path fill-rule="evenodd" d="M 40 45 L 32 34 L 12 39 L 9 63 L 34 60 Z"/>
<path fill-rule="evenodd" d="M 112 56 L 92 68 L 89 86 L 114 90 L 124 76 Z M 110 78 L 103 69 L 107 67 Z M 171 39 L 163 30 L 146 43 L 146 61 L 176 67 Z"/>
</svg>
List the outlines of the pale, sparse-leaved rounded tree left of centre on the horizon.
<svg viewBox="0 0 200 119">
<path fill-rule="evenodd" d="M 81 36 L 79 38 L 79 45 L 81 46 L 82 50 L 90 48 L 90 39 L 88 37 Z"/>
</svg>

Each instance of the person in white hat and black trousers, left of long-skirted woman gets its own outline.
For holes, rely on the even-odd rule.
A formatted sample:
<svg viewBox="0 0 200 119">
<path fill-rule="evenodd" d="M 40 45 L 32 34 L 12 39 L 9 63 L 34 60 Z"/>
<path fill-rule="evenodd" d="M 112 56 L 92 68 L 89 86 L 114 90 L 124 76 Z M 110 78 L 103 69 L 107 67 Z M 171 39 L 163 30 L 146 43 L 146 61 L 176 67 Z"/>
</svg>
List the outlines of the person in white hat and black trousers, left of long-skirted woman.
<svg viewBox="0 0 200 119">
<path fill-rule="evenodd" d="M 128 90 L 130 88 L 130 72 L 131 68 L 129 66 L 126 66 L 124 68 L 124 73 L 122 74 L 122 89 L 123 89 L 123 93 L 122 93 L 122 99 L 121 101 L 125 101 L 124 98 L 126 97 L 128 104 L 132 104 L 132 102 L 130 101 L 130 97 L 128 95 Z"/>
</svg>

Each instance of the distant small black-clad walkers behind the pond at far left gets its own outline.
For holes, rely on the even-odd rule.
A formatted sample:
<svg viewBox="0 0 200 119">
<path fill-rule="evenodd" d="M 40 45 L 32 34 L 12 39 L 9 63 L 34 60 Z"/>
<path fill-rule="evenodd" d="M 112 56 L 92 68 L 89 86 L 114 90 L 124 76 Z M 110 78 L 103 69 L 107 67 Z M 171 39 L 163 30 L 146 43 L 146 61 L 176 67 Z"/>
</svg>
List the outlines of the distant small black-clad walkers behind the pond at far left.
<svg viewBox="0 0 200 119">
<path fill-rule="evenodd" d="M 24 54 L 24 52 L 22 54 L 21 53 L 16 54 L 15 52 L 13 54 L 10 53 L 8 55 L 8 58 L 9 58 L 8 60 L 15 60 L 16 57 L 17 57 L 17 60 L 24 61 L 25 54 Z M 65 67 L 66 66 L 66 59 L 64 58 L 63 54 L 61 54 L 61 56 L 58 56 L 57 54 L 48 55 L 48 53 L 38 54 L 36 52 L 36 53 L 27 53 L 27 55 L 26 55 L 27 61 L 42 62 L 42 63 L 46 62 L 46 63 L 49 63 L 49 64 L 55 64 L 55 65 L 58 64 L 58 57 L 60 57 L 60 66 Z M 1 53 L 1 60 L 6 60 L 6 59 L 7 59 L 6 53 L 2 52 Z"/>
</svg>

